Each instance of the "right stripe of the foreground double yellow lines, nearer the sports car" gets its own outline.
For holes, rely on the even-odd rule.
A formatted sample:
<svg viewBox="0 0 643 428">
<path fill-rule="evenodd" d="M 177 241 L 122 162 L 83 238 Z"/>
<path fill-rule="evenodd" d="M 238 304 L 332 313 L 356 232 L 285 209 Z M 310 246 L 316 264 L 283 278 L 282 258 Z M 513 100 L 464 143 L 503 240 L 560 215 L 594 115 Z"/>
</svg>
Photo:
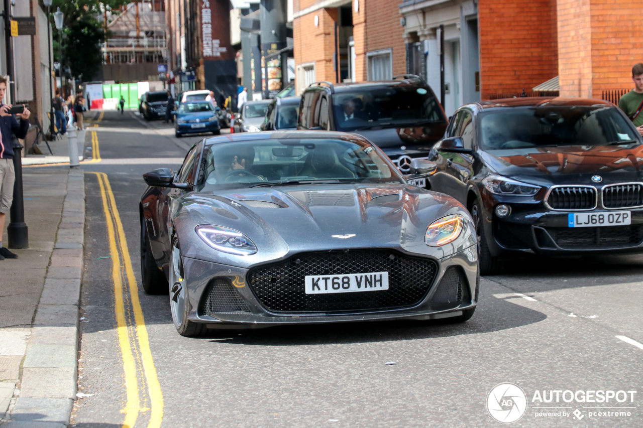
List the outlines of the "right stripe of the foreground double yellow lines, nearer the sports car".
<svg viewBox="0 0 643 428">
<path fill-rule="evenodd" d="M 116 208 L 116 199 L 109 184 L 107 174 L 100 172 L 105 187 L 107 188 L 107 195 L 111 202 L 111 213 L 116 220 L 116 230 L 118 231 L 118 241 L 120 245 L 121 254 L 123 254 L 123 262 L 125 264 L 125 272 L 127 272 L 127 281 L 129 284 L 129 294 L 134 309 L 134 319 L 136 321 L 136 334 L 138 335 L 138 346 L 141 352 L 141 359 L 143 361 L 143 370 L 145 371 L 145 379 L 149 388 L 150 401 L 152 402 L 152 414 L 150 415 L 150 422 L 148 428 L 158 428 L 161 426 L 163 420 L 163 391 L 161 391 L 161 384 L 159 384 L 158 376 L 156 375 L 156 368 L 154 367 L 154 359 L 152 358 L 152 351 L 150 350 L 149 337 L 147 335 L 147 327 L 145 327 L 145 318 L 143 317 L 143 309 L 141 308 L 140 300 L 138 299 L 138 282 L 134 276 L 134 269 L 132 267 L 132 260 L 129 256 L 129 249 L 127 247 L 127 238 L 125 237 L 125 230 Z"/>
</svg>

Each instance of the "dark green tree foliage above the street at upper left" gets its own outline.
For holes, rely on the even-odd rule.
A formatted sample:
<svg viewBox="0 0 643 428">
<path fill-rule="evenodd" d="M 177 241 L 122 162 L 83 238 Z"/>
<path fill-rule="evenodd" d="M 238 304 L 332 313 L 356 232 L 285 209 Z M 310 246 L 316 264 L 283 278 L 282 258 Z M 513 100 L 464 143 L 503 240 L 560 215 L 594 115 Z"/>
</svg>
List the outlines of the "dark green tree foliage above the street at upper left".
<svg viewBox="0 0 643 428">
<path fill-rule="evenodd" d="M 98 17 L 105 8 L 118 9 L 127 0 L 53 0 L 51 3 L 51 27 L 53 29 L 54 58 L 60 61 L 59 40 L 62 36 L 62 62 L 69 66 L 71 74 L 80 80 L 91 80 L 100 67 L 102 57 L 100 43 L 106 35 Z M 42 0 L 41 0 L 42 6 Z M 47 10 L 42 6 L 43 10 Z M 54 25 L 53 13 L 60 8 L 64 13 L 62 34 Z"/>
</svg>

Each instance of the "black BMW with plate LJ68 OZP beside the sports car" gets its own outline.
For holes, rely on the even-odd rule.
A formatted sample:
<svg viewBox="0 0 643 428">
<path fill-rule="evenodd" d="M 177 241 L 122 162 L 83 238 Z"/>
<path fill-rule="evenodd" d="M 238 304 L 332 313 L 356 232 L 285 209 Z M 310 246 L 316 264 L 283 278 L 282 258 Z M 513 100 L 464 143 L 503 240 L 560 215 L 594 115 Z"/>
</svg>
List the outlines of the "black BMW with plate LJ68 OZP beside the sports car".
<svg viewBox="0 0 643 428">
<path fill-rule="evenodd" d="M 642 143 L 631 121 L 601 100 L 464 105 L 431 150 L 431 190 L 471 212 L 482 274 L 520 253 L 641 253 Z"/>
</svg>

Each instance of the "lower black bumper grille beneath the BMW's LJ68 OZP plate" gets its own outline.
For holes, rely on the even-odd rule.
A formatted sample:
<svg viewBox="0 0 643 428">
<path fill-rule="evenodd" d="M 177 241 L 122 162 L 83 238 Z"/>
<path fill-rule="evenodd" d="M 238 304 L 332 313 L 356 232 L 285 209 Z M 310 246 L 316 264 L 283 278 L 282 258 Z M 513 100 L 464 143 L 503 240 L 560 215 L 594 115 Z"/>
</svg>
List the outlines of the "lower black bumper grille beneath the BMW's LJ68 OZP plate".
<svg viewBox="0 0 643 428">
<path fill-rule="evenodd" d="M 547 232 L 561 248 L 634 246 L 643 240 L 643 226 L 549 227 Z"/>
</svg>

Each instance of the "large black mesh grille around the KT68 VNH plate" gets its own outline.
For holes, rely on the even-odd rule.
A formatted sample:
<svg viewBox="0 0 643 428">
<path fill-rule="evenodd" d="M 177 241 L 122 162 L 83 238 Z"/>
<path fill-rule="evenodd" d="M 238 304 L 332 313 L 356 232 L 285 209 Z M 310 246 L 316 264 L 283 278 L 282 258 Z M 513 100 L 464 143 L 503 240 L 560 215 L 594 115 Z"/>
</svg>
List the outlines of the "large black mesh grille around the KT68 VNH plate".
<svg viewBox="0 0 643 428">
<path fill-rule="evenodd" d="M 248 284 L 272 312 L 365 311 L 417 305 L 431 287 L 433 260 L 391 250 L 326 251 L 297 254 L 285 262 L 252 269 Z M 388 290 L 305 294 L 307 275 L 388 272 Z"/>
</svg>

